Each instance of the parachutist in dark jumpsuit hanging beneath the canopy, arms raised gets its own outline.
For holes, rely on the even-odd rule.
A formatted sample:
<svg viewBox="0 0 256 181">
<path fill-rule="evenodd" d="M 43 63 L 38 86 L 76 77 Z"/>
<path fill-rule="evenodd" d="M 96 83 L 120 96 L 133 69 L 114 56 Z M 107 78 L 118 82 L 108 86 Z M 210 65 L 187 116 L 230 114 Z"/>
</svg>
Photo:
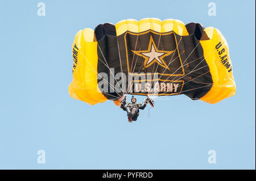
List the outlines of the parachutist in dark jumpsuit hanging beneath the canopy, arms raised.
<svg viewBox="0 0 256 181">
<path fill-rule="evenodd" d="M 125 106 L 126 105 L 126 96 L 125 96 L 125 98 L 123 98 L 121 102 L 120 107 L 122 108 L 123 111 L 127 112 L 128 121 L 130 123 L 131 121 L 137 120 L 139 116 L 139 110 L 144 110 L 144 108 L 147 106 L 147 103 L 150 103 L 150 105 L 154 107 L 154 101 L 148 98 L 148 96 L 141 104 L 136 103 L 136 101 L 137 99 L 134 96 L 132 96 L 131 103 L 128 103 L 127 106 Z M 142 106 L 143 103 L 144 105 Z"/>
</svg>

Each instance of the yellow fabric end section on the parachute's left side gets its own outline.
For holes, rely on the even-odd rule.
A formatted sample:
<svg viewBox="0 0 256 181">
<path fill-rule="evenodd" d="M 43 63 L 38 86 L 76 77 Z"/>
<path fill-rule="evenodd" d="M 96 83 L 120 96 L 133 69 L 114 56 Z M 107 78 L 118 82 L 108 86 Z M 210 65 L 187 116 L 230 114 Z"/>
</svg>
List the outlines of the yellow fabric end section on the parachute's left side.
<svg viewBox="0 0 256 181">
<path fill-rule="evenodd" d="M 73 81 L 68 87 L 69 95 L 91 105 L 108 100 L 98 89 L 97 41 L 93 30 L 86 28 L 76 34 L 72 54 Z"/>
</svg>

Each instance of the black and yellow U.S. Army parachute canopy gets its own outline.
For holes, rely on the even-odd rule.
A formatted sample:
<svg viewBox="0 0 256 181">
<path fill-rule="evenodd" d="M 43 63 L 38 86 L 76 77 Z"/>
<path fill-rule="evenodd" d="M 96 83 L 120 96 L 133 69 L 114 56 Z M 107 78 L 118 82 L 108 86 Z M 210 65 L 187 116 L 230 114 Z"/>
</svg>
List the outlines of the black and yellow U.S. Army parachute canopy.
<svg viewBox="0 0 256 181">
<path fill-rule="evenodd" d="M 214 104 L 236 93 L 228 43 L 200 23 L 146 18 L 77 32 L 69 95 L 88 104 L 124 95 L 187 95 Z"/>
</svg>

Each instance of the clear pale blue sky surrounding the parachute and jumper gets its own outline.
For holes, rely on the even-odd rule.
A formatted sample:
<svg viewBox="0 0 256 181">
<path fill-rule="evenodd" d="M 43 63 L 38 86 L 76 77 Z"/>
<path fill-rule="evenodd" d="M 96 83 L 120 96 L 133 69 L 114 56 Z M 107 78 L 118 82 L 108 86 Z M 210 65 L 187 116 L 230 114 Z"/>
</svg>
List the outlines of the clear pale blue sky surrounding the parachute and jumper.
<svg viewBox="0 0 256 181">
<path fill-rule="evenodd" d="M 46 16 L 38 16 L 39 2 L 0 2 L 0 169 L 255 169 L 255 1 L 42 1 Z M 132 124 L 110 101 L 72 99 L 76 32 L 147 17 L 218 28 L 236 95 L 213 105 L 156 100 L 150 117 L 146 108 Z"/>
</svg>

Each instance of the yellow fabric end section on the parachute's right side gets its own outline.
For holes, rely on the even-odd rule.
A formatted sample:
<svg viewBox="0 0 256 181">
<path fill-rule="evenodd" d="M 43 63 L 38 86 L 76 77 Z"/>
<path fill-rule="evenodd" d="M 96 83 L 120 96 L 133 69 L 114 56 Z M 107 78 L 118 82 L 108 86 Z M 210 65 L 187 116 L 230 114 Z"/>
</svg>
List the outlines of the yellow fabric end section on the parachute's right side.
<svg viewBox="0 0 256 181">
<path fill-rule="evenodd" d="M 234 82 L 233 71 L 229 71 L 232 68 L 232 62 L 229 58 L 228 43 L 225 38 L 221 35 L 221 32 L 216 28 L 208 27 L 205 28 L 204 32 L 207 34 L 210 40 L 200 41 L 205 55 L 205 61 L 212 74 L 213 85 L 212 89 L 204 95 L 201 100 L 207 103 L 218 103 L 225 98 L 229 98 L 236 94 L 236 83 Z M 216 49 L 216 45 L 221 43 L 221 48 Z M 225 59 L 221 59 L 220 52 L 226 54 Z M 227 60 L 225 63 L 225 60 Z M 226 68 L 226 63 L 229 63 L 230 68 Z"/>
</svg>

